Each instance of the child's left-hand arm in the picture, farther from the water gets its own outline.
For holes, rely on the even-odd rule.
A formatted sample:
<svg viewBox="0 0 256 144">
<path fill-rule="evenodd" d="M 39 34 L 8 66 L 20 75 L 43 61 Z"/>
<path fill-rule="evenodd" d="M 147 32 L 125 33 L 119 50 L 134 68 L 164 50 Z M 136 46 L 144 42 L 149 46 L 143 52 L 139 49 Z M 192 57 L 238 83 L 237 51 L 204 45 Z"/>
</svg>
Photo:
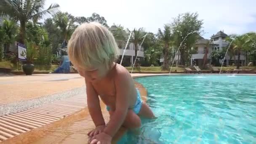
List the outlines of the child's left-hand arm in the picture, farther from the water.
<svg viewBox="0 0 256 144">
<path fill-rule="evenodd" d="M 93 85 L 90 82 L 85 80 L 86 84 L 86 93 L 87 93 L 87 105 L 89 113 L 93 120 L 95 126 L 105 125 L 104 118 L 101 113 L 101 107 L 99 103 L 99 96 L 93 88 Z"/>
</svg>

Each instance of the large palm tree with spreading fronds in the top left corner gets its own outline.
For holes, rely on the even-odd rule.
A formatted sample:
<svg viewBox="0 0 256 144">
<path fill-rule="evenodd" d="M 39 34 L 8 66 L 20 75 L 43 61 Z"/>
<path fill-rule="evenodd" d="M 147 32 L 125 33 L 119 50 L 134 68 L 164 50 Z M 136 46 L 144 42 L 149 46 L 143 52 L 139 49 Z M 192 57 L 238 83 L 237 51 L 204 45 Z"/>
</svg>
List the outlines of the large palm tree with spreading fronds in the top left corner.
<svg viewBox="0 0 256 144">
<path fill-rule="evenodd" d="M 51 4 L 43 10 L 46 0 L 0 0 L 0 15 L 8 15 L 20 23 L 19 42 L 24 44 L 27 21 L 42 18 L 58 11 L 58 4 Z"/>
</svg>

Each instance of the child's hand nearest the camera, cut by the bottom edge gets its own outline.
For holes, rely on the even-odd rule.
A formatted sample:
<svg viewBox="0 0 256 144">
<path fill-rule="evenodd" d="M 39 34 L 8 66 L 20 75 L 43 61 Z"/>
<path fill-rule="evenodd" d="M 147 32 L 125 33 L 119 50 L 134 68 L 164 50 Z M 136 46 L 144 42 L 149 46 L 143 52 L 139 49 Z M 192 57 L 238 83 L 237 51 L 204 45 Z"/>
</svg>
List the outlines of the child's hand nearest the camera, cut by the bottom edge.
<svg viewBox="0 0 256 144">
<path fill-rule="evenodd" d="M 96 136 L 93 136 L 93 140 L 91 144 L 111 144 L 112 137 L 109 136 L 107 133 L 99 133 Z"/>
</svg>

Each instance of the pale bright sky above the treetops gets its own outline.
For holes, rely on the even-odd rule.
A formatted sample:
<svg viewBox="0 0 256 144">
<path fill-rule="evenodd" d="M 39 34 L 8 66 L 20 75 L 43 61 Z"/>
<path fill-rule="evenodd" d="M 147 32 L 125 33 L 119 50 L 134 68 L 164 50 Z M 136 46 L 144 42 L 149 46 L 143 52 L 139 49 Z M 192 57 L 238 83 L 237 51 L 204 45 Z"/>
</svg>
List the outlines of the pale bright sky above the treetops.
<svg viewBox="0 0 256 144">
<path fill-rule="evenodd" d="M 104 16 L 109 26 L 143 27 L 157 33 L 179 13 L 197 12 L 203 20 L 204 38 L 220 30 L 226 34 L 256 31 L 256 0 L 46 0 L 45 7 L 58 3 L 73 16 Z"/>
</svg>

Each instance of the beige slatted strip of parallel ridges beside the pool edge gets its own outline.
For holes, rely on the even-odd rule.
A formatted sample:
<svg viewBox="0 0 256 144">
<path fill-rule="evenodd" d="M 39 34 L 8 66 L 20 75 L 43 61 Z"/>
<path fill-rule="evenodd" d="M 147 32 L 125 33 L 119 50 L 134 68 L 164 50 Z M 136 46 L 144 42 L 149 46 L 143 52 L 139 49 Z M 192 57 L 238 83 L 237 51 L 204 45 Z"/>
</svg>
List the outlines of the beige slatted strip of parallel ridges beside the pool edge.
<svg viewBox="0 0 256 144">
<path fill-rule="evenodd" d="M 76 95 L 61 101 L 0 116 L 0 142 L 61 120 L 85 107 L 87 107 L 86 96 Z"/>
</svg>

